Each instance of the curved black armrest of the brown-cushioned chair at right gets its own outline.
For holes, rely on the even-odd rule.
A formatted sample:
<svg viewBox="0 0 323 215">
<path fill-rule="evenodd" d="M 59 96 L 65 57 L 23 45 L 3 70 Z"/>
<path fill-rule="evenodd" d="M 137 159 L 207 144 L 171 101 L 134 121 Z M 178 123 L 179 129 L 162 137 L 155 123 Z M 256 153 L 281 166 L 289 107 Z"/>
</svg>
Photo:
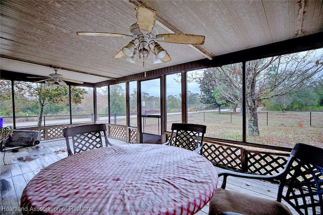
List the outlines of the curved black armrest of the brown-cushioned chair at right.
<svg viewBox="0 0 323 215">
<path fill-rule="evenodd" d="M 256 175 L 256 174 L 249 174 L 249 173 L 239 173 L 239 172 L 234 172 L 230 170 L 224 170 L 218 172 L 219 178 L 223 176 L 223 182 L 221 185 L 222 189 L 226 188 L 227 184 L 227 177 L 228 176 L 234 176 L 234 177 L 240 177 L 240 178 L 249 178 L 249 179 L 263 179 L 263 180 L 273 180 L 273 179 L 280 179 L 280 176 L 282 175 L 283 172 L 280 172 L 275 175 Z"/>
</svg>

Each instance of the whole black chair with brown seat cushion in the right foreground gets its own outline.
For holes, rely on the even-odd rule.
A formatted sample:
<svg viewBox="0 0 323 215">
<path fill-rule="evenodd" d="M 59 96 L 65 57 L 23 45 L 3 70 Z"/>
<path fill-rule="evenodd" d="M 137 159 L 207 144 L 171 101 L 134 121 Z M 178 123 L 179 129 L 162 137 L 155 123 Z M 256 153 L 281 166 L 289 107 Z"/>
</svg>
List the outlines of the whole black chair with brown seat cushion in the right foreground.
<svg viewBox="0 0 323 215">
<path fill-rule="evenodd" d="M 225 211 L 242 214 L 292 214 L 284 199 L 300 214 L 323 212 L 323 149 L 296 144 L 282 172 L 273 176 L 261 176 L 232 171 L 221 171 L 223 184 L 210 200 L 209 214 Z M 250 179 L 279 180 L 277 201 L 253 197 L 226 190 L 228 176 Z"/>
</svg>

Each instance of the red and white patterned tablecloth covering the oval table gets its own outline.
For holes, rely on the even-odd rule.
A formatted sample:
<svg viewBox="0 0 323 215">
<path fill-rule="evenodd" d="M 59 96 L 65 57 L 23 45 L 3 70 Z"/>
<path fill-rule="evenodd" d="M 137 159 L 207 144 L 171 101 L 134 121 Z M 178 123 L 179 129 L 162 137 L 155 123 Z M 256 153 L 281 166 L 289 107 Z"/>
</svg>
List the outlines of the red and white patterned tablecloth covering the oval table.
<svg viewBox="0 0 323 215">
<path fill-rule="evenodd" d="M 21 210 L 24 214 L 194 214 L 210 200 L 217 184 L 212 164 L 189 150 L 152 144 L 109 146 L 69 156 L 41 170 L 25 187 Z"/>
</svg>

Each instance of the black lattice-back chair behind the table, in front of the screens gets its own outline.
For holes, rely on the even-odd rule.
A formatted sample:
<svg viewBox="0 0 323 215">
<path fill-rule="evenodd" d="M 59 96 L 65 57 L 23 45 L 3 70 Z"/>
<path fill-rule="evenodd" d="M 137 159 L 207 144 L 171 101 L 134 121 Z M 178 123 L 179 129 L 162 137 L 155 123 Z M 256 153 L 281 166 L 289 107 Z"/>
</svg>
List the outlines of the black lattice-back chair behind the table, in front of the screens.
<svg viewBox="0 0 323 215">
<path fill-rule="evenodd" d="M 205 132 L 205 125 L 173 123 L 170 139 L 164 145 L 180 147 L 198 153 L 202 149 Z M 201 141 L 199 141 L 199 137 L 201 137 Z"/>
</svg>

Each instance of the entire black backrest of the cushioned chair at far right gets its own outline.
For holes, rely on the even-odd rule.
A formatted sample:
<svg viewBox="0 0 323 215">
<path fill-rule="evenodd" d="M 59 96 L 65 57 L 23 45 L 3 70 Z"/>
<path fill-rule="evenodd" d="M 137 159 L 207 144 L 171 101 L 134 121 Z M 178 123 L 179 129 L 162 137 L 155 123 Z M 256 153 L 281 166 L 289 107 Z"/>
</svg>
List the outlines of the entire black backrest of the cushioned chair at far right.
<svg viewBox="0 0 323 215">
<path fill-rule="evenodd" d="M 323 213 L 323 149 L 296 144 L 281 176 L 278 201 L 300 214 Z"/>
</svg>

